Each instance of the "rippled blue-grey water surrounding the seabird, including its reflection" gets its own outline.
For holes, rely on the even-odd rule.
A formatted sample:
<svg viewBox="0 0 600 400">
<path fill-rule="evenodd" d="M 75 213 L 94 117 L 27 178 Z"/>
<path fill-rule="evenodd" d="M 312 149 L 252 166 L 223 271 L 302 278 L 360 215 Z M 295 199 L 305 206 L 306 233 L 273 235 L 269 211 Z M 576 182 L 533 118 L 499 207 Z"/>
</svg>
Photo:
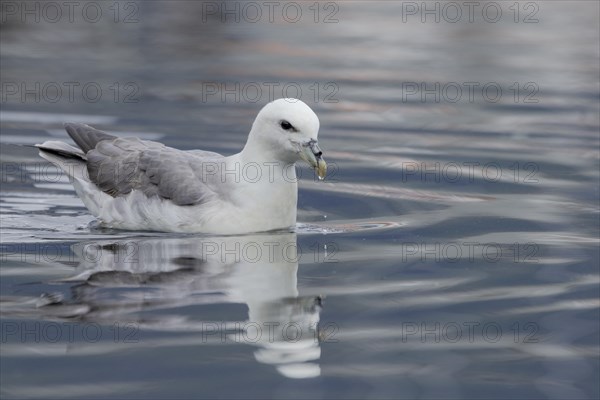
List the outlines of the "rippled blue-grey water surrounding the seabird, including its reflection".
<svg viewBox="0 0 600 400">
<path fill-rule="evenodd" d="M 46 3 L 0 10 L 2 398 L 600 396 L 598 2 Z M 24 146 L 233 154 L 283 96 L 295 232 L 103 229 Z"/>
</svg>

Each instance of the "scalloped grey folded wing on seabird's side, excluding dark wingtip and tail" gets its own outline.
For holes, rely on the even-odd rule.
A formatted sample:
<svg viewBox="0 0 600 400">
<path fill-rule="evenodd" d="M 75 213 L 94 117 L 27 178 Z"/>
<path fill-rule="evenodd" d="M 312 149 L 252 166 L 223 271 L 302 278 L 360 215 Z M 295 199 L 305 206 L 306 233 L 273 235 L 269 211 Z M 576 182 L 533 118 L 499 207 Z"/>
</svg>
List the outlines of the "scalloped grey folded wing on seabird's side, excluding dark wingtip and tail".
<svg viewBox="0 0 600 400">
<path fill-rule="evenodd" d="M 198 155 L 137 138 L 102 140 L 87 153 L 90 180 L 109 195 L 141 190 L 181 206 L 216 195 L 203 180 L 203 162 Z"/>
</svg>

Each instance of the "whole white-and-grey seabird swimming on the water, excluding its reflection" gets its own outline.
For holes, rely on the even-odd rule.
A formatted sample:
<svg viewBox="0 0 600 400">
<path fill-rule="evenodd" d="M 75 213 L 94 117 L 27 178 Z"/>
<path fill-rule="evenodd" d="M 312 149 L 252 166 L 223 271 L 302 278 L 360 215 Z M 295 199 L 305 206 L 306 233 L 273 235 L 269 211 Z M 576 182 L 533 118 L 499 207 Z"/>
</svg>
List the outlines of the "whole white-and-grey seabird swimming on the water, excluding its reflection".
<svg viewBox="0 0 600 400">
<path fill-rule="evenodd" d="M 65 124 L 80 148 L 48 141 L 40 155 L 72 178 L 103 225 L 128 230 L 239 234 L 293 228 L 303 159 L 325 176 L 319 119 L 300 100 L 279 99 L 256 117 L 244 149 L 229 157 L 182 151 Z"/>
</svg>

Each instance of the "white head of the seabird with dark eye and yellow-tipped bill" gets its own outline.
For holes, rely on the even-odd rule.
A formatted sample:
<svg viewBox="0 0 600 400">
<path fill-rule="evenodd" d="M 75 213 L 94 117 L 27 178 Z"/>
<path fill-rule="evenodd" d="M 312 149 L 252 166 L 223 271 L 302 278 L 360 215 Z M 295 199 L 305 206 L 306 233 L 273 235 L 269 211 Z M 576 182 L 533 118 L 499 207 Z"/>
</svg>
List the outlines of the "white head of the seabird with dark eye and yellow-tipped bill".
<svg viewBox="0 0 600 400">
<path fill-rule="evenodd" d="M 277 99 L 256 116 L 246 148 L 268 155 L 273 161 L 304 160 L 323 179 L 327 164 L 322 158 L 318 136 L 319 118 L 309 106 L 298 99 Z"/>
</svg>

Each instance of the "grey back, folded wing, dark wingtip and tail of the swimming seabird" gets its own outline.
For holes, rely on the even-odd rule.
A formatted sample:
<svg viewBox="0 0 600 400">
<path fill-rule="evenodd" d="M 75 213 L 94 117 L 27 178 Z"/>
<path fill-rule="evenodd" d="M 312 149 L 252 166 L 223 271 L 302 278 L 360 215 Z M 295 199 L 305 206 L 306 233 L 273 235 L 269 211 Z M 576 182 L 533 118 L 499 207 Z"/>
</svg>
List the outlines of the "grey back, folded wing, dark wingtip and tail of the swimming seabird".
<svg viewBox="0 0 600 400">
<path fill-rule="evenodd" d="M 84 124 L 65 124 L 65 129 L 81 151 L 60 142 L 38 145 L 40 150 L 85 162 L 90 181 L 113 197 L 141 190 L 147 196 L 185 206 L 201 204 L 215 195 L 202 176 L 203 163 L 217 161 L 223 157 L 220 154 L 185 152 L 157 142 L 120 138 Z"/>
</svg>

